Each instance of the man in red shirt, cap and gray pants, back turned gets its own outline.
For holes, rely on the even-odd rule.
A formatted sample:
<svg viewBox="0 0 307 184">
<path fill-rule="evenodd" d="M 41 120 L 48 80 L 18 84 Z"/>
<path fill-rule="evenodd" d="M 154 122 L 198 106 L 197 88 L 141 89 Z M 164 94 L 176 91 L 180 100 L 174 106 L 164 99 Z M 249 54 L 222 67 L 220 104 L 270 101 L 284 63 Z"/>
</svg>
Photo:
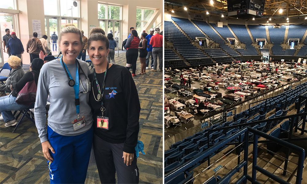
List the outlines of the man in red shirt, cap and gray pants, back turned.
<svg viewBox="0 0 307 184">
<path fill-rule="evenodd" d="M 155 29 L 156 34 L 150 39 L 150 45 L 153 46 L 153 69 L 151 71 L 157 71 L 157 58 L 159 57 L 159 71 L 163 70 L 163 36 L 160 35 L 160 29 Z"/>
</svg>

